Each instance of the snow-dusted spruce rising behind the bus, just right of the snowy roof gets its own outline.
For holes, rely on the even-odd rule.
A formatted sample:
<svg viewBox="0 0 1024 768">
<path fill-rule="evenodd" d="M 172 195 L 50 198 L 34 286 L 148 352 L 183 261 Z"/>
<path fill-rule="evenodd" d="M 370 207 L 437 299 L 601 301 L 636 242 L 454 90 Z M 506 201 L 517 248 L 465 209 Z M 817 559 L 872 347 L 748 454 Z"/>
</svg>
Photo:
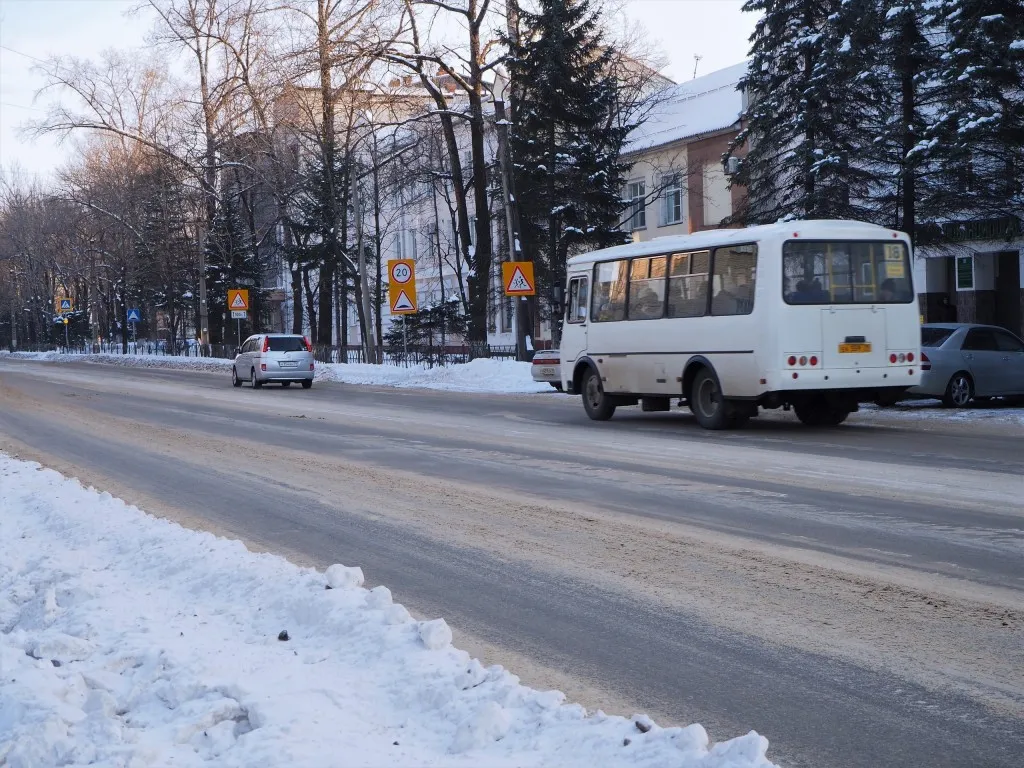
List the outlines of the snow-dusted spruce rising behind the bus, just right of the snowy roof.
<svg viewBox="0 0 1024 768">
<path fill-rule="evenodd" d="M 726 158 L 746 150 L 733 183 L 746 188 L 734 217 L 780 219 L 868 216 L 872 169 L 858 160 L 859 121 L 877 94 L 859 80 L 871 62 L 854 38 L 857 0 L 748 0 L 762 13 L 751 38 L 743 129 Z M 861 22 L 862 24 L 862 22 Z"/>
</svg>

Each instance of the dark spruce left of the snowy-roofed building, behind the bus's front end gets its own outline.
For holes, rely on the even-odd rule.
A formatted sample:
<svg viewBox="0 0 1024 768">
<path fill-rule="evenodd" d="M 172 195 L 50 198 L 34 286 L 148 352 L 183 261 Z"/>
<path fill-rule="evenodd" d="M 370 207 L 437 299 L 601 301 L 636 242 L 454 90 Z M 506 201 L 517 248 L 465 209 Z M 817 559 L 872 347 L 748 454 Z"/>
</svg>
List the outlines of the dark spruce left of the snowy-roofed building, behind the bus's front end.
<svg viewBox="0 0 1024 768">
<path fill-rule="evenodd" d="M 634 126 L 615 113 L 613 50 L 591 0 L 539 0 L 520 27 L 507 41 L 520 245 L 549 287 L 568 254 L 624 242 L 620 154 Z"/>
</svg>

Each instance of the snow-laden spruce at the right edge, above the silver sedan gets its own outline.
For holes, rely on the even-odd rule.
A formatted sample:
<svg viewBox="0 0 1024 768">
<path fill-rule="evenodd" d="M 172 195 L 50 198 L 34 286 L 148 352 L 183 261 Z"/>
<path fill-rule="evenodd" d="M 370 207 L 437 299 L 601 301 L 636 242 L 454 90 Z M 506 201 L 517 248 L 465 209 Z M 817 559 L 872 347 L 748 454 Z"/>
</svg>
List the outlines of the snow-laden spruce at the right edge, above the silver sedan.
<svg viewBox="0 0 1024 768">
<path fill-rule="evenodd" d="M 930 130 L 962 217 L 1024 222 L 1024 0 L 941 0 L 947 109 Z"/>
</svg>

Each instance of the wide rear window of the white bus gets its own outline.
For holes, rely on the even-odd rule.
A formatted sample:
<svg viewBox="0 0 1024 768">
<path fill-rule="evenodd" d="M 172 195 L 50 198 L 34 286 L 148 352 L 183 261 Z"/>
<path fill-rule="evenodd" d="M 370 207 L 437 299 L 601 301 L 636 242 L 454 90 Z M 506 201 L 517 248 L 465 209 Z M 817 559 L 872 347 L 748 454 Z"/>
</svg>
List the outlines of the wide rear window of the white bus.
<svg viewBox="0 0 1024 768">
<path fill-rule="evenodd" d="M 908 304 L 910 262 L 903 243 L 788 241 L 782 246 L 787 304 Z"/>
</svg>

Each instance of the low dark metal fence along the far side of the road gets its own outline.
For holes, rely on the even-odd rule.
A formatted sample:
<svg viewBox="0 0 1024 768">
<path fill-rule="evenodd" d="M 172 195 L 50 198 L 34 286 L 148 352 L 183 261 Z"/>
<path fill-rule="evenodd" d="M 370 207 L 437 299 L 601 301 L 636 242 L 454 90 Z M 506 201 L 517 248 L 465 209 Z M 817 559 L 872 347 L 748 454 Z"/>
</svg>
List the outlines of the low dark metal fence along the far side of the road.
<svg viewBox="0 0 1024 768">
<path fill-rule="evenodd" d="M 171 343 L 167 341 L 134 341 L 129 342 L 127 352 L 119 344 L 102 343 L 80 343 L 63 346 L 62 344 L 19 344 L 16 351 L 19 352 L 58 352 L 61 354 L 130 354 L 130 355 L 178 355 L 185 357 L 219 357 L 231 359 L 234 357 L 237 347 L 234 344 L 197 344 L 196 342 Z M 451 366 L 460 362 L 469 362 L 475 357 L 490 357 L 494 359 L 515 359 L 515 345 L 507 344 L 480 344 L 473 346 L 428 346 L 410 345 L 408 349 L 385 349 L 383 350 L 383 361 L 392 366 L 426 366 L 434 368 L 438 366 Z M 356 346 L 328 346 L 317 344 L 313 346 L 313 358 L 317 362 L 366 362 L 366 354 L 361 347 Z"/>
</svg>

